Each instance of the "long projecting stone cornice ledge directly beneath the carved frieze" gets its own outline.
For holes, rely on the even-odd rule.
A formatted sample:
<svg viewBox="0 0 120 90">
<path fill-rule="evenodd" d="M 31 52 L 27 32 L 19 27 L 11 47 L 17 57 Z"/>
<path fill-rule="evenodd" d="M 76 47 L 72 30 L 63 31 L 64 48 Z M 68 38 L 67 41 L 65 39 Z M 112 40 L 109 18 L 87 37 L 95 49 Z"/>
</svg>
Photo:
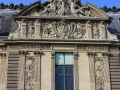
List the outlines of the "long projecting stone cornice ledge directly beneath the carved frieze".
<svg viewBox="0 0 120 90">
<path fill-rule="evenodd" d="M 55 40 L 55 39 L 24 39 L 24 40 L 4 40 L 5 44 L 18 43 L 41 43 L 41 44 L 93 44 L 93 45 L 120 45 L 120 41 L 106 41 L 106 40 Z"/>
</svg>

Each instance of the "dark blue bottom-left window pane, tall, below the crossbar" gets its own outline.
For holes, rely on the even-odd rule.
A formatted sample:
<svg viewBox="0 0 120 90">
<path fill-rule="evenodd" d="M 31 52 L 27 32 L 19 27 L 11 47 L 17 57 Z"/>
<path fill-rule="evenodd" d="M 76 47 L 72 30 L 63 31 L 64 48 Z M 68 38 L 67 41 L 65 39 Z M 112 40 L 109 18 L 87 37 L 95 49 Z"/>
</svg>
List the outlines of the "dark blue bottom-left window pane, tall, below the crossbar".
<svg viewBox="0 0 120 90">
<path fill-rule="evenodd" d="M 55 90 L 64 90 L 64 76 L 55 77 Z"/>
</svg>

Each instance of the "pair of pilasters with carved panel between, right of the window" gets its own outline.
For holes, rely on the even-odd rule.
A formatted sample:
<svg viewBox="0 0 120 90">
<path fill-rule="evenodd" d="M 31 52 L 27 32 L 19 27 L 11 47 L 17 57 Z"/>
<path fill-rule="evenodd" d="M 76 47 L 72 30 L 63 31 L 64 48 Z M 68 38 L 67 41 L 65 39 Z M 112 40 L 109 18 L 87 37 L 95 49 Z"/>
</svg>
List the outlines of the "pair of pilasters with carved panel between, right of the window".
<svg viewBox="0 0 120 90">
<path fill-rule="evenodd" d="M 91 90 L 110 90 L 108 52 L 88 52 Z"/>
</svg>

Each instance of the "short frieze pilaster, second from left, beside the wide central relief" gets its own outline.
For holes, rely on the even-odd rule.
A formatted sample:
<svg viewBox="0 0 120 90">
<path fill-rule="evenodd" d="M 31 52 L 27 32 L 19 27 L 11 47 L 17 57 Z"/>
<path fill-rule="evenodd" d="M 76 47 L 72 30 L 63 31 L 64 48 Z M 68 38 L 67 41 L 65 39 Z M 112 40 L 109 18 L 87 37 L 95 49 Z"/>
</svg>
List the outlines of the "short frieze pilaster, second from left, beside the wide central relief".
<svg viewBox="0 0 120 90">
<path fill-rule="evenodd" d="M 41 38 L 41 20 L 37 19 L 35 23 L 35 38 Z"/>
</svg>

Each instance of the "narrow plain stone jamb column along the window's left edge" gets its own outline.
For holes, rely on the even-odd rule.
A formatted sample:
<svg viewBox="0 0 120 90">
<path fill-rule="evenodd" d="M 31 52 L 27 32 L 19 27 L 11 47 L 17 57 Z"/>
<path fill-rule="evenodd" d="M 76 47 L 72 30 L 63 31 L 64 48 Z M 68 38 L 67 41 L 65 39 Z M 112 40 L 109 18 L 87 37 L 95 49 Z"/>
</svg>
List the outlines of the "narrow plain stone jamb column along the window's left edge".
<svg viewBox="0 0 120 90">
<path fill-rule="evenodd" d="M 51 53 L 51 90 L 55 90 L 55 52 Z"/>
</svg>

